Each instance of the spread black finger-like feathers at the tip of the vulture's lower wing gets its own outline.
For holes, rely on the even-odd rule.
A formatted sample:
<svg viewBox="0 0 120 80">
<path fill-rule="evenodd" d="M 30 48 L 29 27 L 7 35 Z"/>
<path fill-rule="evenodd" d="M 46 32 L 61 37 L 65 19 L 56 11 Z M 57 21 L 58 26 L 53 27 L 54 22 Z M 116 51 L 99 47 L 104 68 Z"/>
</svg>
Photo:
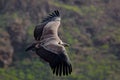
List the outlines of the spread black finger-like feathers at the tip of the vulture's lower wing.
<svg viewBox="0 0 120 80">
<path fill-rule="evenodd" d="M 71 63 L 61 60 L 60 58 L 55 59 L 52 63 L 50 63 L 50 66 L 53 74 L 55 74 L 56 76 L 68 76 L 72 72 Z"/>
</svg>

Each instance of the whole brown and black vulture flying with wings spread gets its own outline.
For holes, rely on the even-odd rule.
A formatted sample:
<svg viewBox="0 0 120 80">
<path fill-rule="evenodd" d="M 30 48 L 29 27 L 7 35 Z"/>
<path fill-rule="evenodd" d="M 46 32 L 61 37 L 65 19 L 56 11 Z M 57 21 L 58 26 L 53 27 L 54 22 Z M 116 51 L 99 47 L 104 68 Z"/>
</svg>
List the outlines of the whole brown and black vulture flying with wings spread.
<svg viewBox="0 0 120 80">
<path fill-rule="evenodd" d="M 58 36 L 60 21 L 58 10 L 44 18 L 41 24 L 35 27 L 35 42 L 26 49 L 35 51 L 40 58 L 48 62 L 53 74 L 57 76 L 72 72 L 72 65 L 65 49 L 68 44 L 62 42 Z"/>
</svg>

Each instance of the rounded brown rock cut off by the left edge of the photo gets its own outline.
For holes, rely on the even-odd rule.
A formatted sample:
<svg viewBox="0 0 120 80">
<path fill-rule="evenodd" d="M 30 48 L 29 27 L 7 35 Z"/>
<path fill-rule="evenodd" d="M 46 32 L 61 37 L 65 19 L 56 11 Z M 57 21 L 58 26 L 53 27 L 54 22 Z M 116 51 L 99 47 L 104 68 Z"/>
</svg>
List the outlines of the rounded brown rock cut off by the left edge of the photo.
<svg viewBox="0 0 120 80">
<path fill-rule="evenodd" d="M 13 47 L 9 38 L 9 34 L 0 29 L 0 67 L 7 67 L 12 62 Z"/>
</svg>

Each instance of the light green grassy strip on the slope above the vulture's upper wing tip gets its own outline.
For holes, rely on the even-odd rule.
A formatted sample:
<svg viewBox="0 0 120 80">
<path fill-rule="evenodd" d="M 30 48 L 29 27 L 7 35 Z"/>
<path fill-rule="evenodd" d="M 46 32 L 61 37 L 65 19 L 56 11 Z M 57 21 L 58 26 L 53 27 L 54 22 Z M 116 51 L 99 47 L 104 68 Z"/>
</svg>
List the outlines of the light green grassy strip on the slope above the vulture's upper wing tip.
<svg viewBox="0 0 120 80">
<path fill-rule="evenodd" d="M 68 5 L 68 4 L 64 4 L 60 2 L 53 2 L 53 1 L 51 1 L 50 4 L 76 12 L 80 14 L 81 16 L 86 16 L 88 14 L 95 16 L 93 13 L 101 13 L 103 10 L 102 8 L 97 8 L 94 5 L 78 7 L 76 5 Z"/>
</svg>

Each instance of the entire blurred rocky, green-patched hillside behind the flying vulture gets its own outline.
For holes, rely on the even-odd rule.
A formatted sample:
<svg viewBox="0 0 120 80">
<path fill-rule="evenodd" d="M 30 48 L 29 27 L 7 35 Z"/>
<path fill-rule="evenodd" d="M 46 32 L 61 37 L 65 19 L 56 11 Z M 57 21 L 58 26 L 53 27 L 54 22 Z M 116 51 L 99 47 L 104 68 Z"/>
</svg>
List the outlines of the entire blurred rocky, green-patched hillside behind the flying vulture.
<svg viewBox="0 0 120 80">
<path fill-rule="evenodd" d="M 54 10 L 72 61 L 70 76 L 56 77 L 25 48 L 35 25 Z M 0 0 L 0 80 L 119 80 L 119 0 Z"/>
</svg>

